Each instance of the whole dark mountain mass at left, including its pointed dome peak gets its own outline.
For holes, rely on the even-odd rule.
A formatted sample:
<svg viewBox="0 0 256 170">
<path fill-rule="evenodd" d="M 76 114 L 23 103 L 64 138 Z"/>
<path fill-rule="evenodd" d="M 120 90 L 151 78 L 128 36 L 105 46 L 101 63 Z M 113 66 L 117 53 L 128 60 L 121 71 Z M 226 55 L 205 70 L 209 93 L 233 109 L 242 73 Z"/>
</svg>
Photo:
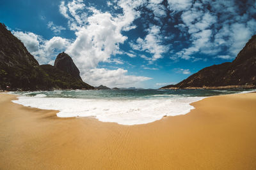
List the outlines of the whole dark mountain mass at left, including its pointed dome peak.
<svg viewBox="0 0 256 170">
<path fill-rule="evenodd" d="M 94 89 L 81 80 L 71 57 L 63 55 L 56 66 L 40 66 L 23 43 L 0 23 L 0 89 Z"/>
</svg>

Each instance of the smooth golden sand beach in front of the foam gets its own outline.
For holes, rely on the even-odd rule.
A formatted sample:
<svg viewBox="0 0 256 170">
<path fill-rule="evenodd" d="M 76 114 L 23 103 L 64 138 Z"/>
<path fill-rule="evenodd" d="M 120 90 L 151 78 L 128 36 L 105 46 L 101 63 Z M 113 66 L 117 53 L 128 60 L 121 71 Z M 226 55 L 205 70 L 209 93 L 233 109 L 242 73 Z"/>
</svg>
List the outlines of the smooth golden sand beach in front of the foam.
<svg viewBox="0 0 256 170">
<path fill-rule="evenodd" d="M 145 125 L 58 118 L 0 94 L 0 169 L 256 169 L 256 94 Z"/>
</svg>

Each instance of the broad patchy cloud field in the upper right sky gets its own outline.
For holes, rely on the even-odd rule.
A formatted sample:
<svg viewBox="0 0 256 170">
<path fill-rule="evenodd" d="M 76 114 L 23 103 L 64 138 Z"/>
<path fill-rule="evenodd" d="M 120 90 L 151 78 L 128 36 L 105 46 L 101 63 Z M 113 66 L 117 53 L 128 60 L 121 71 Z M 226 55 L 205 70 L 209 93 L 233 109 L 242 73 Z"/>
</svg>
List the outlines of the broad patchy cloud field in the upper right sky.
<svg viewBox="0 0 256 170">
<path fill-rule="evenodd" d="M 255 18 L 250 13 L 250 9 L 255 8 L 253 1 L 246 1 L 244 11 L 231 0 L 204 0 L 194 3 L 170 0 L 168 3 L 170 10 L 181 11 L 182 23 L 175 27 L 190 41 L 188 48 L 175 53 L 171 59 L 195 60 L 197 53 L 215 57 L 225 49 L 227 55 L 236 56 L 256 31 Z"/>
</svg>

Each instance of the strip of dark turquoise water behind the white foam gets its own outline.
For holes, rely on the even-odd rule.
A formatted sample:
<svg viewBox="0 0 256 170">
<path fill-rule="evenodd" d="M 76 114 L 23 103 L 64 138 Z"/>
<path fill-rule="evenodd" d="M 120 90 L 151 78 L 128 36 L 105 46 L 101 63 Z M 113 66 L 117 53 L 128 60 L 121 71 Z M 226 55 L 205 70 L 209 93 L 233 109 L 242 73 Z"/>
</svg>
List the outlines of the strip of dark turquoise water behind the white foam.
<svg viewBox="0 0 256 170">
<path fill-rule="evenodd" d="M 250 91 L 250 90 L 248 90 Z M 208 97 L 223 94 L 244 92 L 244 89 L 209 90 L 209 89 L 179 89 L 179 90 L 55 90 L 38 92 L 13 92 L 22 96 L 34 97 L 67 97 L 77 99 L 154 99 L 170 97 Z"/>
</svg>

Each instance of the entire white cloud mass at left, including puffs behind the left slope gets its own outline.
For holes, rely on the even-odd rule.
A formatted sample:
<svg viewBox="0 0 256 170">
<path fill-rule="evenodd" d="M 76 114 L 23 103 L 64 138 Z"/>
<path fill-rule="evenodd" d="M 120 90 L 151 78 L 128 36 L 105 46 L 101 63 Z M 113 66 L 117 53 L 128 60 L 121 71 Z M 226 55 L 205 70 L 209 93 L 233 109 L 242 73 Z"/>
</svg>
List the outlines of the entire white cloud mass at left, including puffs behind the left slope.
<svg viewBox="0 0 256 170">
<path fill-rule="evenodd" d="M 67 52 L 79 67 L 81 77 L 92 85 L 109 85 L 126 87 L 141 81 L 150 80 L 144 76 L 132 76 L 125 69 L 109 70 L 98 68 L 99 62 L 124 64 L 116 54 L 126 53 L 129 57 L 136 57 L 134 52 L 122 52 L 119 45 L 127 39 L 122 31 L 135 29 L 132 22 L 140 16 L 135 9 L 146 1 L 129 0 L 113 1 L 116 9 L 122 13 L 113 16 L 109 12 L 102 12 L 93 6 L 86 6 L 83 0 L 61 1 L 59 9 L 61 15 L 67 18 L 68 27 L 76 34 L 76 39 L 70 40 L 54 36 L 47 40 L 32 32 L 13 31 L 28 48 L 40 64 L 52 64 L 56 54 L 61 50 Z M 47 27 L 55 34 L 60 34 L 64 27 L 48 22 Z"/>
</svg>

